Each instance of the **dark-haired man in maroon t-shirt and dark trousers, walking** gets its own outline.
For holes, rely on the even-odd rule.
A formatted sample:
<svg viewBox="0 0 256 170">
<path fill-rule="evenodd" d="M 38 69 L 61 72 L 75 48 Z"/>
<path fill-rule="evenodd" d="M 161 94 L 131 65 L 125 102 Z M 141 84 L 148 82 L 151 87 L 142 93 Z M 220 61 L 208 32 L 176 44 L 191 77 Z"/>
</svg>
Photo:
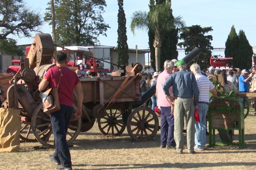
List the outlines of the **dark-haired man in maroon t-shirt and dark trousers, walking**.
<svg viewBox="0 0 256 170">
<path fill-rule="evenodd" d="M 67 130 L 71 115 L 73 114 L 73 91 L 78 99 L 78 108 L 75 116 L 82 115 L 83 89 L 81 82 L 71 69 L 66 67 L 67 54 L 60 52 L 56 56 L 56 66 L 49 68 L 45 73 L 44 79 L 39 84 L 39 91 L 57 87 L 60 79 L 58 95 L 60 110 L 50 114 L 53 134 L 55 138 L 55 152 L 49 155 L 51 161 L 60 165 L 57 169 L 72 169 L 69 146 L 66 140 Z"/>
</svg>

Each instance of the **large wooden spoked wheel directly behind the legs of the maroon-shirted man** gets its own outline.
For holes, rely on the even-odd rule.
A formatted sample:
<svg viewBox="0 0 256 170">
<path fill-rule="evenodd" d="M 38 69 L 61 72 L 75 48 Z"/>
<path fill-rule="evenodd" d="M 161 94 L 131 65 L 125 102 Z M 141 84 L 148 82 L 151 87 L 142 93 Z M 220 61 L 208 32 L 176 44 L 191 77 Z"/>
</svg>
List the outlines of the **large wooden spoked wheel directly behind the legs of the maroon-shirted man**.
<svg viewBox="0 0 256 170">
<path fill-rule="evenodd" d="M 36 107 L 32 117 L 32 131 L 35 138 L 44 146 L 54 148 L 54 135 L 50 117 L 44 114 L 42 103 Z M 71 119 L 67 132 L 67 141 L 70 145 L 78 136 L 81 129 L 81 118 Z"/>
</svg>

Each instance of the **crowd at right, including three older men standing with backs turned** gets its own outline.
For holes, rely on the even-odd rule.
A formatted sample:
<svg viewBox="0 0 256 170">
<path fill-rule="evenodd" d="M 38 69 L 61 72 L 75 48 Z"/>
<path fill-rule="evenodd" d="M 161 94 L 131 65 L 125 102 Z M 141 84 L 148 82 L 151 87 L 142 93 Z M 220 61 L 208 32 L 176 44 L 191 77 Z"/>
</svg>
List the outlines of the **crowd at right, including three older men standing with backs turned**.
<svg viewBox="0 0 256 170">
<path fill-rule="evenodd" d="M 164 70 L 153 73 L 153 76 L 143 75 L 141 83 L 145 82 L 142 94 L 149 87 L 156 84 L 156 94 L 151 97 L 151 109 L 160 109 L 160 148 L 176 149 L 178 153 L 184 150 L 184 118 L 187 133 L 187 148 L 189 154 L 195 150 L 204 150 L 207 134 L 207 112 L 209 102 L 217 97 L 217 91 L 211 82 L 211 76 L 222 75 L 224 79 L 224 92 L 235 93 L 255 92 L 256 75 L 246 69 L 231 68 L 215 69 L 209 67 L 207 73 L 202 72 L 198 64 L 192 64 L 187 69 L 187 63 L 180 60 L 167 60 Z M 148 83 L 149 82 L 149 83 Z M 251 88 L 249 88 L 251 87 Z M 254 109 L 256 115 L 256 98 Z M 241 98 L 241 102 L 242 101 Z M 150 107 L 146 105 L 146 107 Z M 195 120 L 195 110 L 198 111 L 200 121 Z"/>
</svg>

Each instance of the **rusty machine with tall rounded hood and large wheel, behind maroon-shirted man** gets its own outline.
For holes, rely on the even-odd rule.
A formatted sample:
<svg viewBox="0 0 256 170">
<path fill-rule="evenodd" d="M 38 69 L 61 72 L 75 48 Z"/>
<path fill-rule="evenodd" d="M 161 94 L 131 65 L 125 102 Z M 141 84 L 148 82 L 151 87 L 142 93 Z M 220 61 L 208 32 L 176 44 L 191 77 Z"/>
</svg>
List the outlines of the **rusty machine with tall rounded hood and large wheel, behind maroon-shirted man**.
<svg viewBox="0 0 256 170">
<path fill-rule="evenodd" d="M 5 108 L 21 110 L 22 127 L 20 138 L 25 141 L 39 140 L 45 146 L 53 146 L 50 118 L 42 111 L 38 84 L 44 72 L 53 66 L 49 64 L 54 53 L 54 44 L 49 34 L 36 34 L 26 59 L 21 61 L 20 70 L 12 78 L 12 85 L 7 90 L 7 99 L 2 104 Z M 70 121 L 68 143 L 79 134 L 81 118 Z"/>
</svg>

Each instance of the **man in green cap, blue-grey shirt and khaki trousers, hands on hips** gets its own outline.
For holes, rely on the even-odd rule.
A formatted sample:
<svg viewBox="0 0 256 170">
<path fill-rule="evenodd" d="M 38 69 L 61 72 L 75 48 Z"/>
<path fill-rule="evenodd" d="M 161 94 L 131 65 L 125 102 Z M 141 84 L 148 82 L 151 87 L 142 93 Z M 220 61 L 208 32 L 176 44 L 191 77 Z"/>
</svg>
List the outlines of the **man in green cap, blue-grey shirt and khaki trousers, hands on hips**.
<svg viewBox="0 0 256 170">
<path fill-rule="evenodd" d="M 184 135 L 183 122 L 184 116 L 187 127 L 187 147 L 188 153 L 193 154 L 195 145 L 195 108 L 197 108 L 199 90 L 197 81 L 191 72 L 186 70 L 187 65 L 184 60 L 176 63 L 179 71 L 172 74 L 163 84 L 163 91 L 170 97 L 169 88 L 173 88 L 174 102 L 174 140 L 176 151 L 183 153 Z"/>
</svg>

